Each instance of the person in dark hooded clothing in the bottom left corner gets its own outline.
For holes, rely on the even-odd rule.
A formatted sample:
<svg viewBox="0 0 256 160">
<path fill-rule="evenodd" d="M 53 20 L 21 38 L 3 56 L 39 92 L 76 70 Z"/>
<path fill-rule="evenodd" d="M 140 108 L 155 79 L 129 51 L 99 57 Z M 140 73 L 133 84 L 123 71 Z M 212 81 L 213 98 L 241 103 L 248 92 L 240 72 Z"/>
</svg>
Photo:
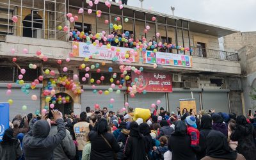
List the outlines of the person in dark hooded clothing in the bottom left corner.
<svg viewBox="0 0 256 160">
<path fill-rule="evenodd" d="M 20 141 L 13 138 L 13 129 L 6 129 L 2 140 L 0 142 L 0 159 L 13 160 L 22 156 Z"/>
</svg>

